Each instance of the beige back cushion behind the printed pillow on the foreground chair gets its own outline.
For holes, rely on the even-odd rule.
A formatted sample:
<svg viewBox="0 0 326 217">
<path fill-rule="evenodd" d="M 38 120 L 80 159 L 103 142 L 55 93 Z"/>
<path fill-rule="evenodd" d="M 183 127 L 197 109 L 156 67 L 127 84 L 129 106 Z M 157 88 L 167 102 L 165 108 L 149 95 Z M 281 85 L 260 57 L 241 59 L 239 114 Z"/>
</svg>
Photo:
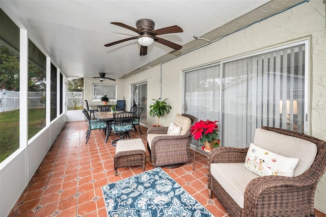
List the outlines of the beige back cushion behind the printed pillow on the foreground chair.
<svg viewBox="0 0 326 217">
<path fill-rule="evenodd" d="M 314 143 L 260 128 L 255 131 L 253 143 L 286 157 L 299 158 L 293 176 L 308 170 L 317 154 L 317 146 Z"/>
</svg>

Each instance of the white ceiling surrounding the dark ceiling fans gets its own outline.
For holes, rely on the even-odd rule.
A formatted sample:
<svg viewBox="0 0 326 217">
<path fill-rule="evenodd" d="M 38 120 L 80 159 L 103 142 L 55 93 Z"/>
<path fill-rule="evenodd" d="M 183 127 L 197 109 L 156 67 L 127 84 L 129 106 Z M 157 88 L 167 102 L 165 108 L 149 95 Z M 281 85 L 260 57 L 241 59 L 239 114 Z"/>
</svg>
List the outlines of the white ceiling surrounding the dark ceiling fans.
<svg viewBox="0 0 326 217">
<path fill-rule="evenodd" d="M 42 47 L 41 50 L 51 57 L 66 76 L 95 77 L 99 72 L 105 72 L 106 77 L 115 79 L 208 43 L 195 40 L 194 36 L 212 41 L 298 2 L 302 1 L 1 0 L 1 4 L 5 4 L 3 6 L 12 14 L 19 15 L 16 18 L 29 30 L 32 41 Z M 155 29 L 179 25 L 183 33 L 159 37 L 180 44 L 183 48 L 174 51 L 154 42 L 148 47 L 148 55 L 141 57 L 137 40 L 104 47 L 106 43 L 138 36 L 110 22 L 122 22 L 136 28 L 135 22 L 144 18 L 153 20 Z M 222 31 L 227 23 L 232 28 L 227 32 Z"/>
</svg>

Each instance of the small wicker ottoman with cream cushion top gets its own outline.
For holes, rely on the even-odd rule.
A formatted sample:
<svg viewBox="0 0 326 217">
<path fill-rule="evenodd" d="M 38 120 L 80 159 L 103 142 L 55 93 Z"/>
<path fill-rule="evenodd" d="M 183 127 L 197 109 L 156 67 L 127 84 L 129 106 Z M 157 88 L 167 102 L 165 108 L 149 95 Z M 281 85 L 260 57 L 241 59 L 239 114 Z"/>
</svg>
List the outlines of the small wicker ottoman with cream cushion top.
<svg viewBox="0 0 326 217">
<path fill-rule="evenodd" d="M 114 157 L 114 173 L 118 175 L 118 168 L 130 166 L 143 166 L 145 171 L 146 152 L 141 139 L 119 140 Z"/>
</svg>

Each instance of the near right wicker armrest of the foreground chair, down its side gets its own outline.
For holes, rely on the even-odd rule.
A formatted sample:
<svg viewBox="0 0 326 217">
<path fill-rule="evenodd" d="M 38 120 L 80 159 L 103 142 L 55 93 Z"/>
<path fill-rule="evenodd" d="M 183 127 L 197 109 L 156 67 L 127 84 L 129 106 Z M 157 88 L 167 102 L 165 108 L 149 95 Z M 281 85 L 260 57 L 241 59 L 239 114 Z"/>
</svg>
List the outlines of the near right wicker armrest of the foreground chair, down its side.
<svg viewBox="0 0 326 217">
<path fill-rule="evenodd" d="M 295 212 L 298 206 L 306 206 L 302 210 L 313 210 L 311 201 L 314 200 L 314 191 L 311 189 L 316 187 L 317 181 L 307 174 L 306 171 L 295 177 L 263 176 L 251 180 L 244 191 L 243 216 L 249 216 L 249 213 L 261 216 L 266 207 L 273 210 L 269 213 L 273 216 L 280 215 L 284 210 L 291 213 L 294 209 Z M 302 213 L 302 216 L 307 214 Z"/>
</svg>

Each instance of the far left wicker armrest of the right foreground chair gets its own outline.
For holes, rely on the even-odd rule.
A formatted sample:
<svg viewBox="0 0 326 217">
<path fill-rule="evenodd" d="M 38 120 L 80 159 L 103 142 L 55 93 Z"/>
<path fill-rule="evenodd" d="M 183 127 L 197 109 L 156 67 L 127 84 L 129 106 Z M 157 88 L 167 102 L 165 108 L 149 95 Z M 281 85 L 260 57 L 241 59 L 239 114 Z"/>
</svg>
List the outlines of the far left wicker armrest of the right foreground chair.
<svg viewBox="0 0 326 217">
<path fill-rule="evenodd" d="M 219 147 L 208 154 L 208 167 L 213 163 L 237 163 L 246 161 L 247 148 Z"/>
</svg>

